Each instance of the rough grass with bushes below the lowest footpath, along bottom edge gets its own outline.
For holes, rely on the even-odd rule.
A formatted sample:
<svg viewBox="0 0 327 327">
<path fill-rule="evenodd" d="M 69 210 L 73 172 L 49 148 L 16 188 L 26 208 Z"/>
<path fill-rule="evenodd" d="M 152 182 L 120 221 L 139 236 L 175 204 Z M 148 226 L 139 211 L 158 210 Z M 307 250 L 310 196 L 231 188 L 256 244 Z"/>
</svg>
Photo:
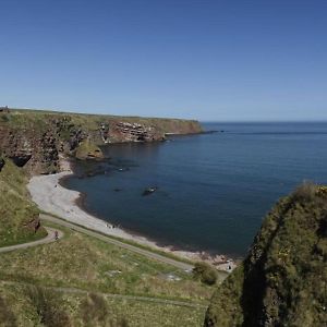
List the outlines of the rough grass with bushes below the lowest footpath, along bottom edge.
<svg viewBox="0 0 327 327">
<path fill-rule="evenodd" d="M 202 326 L 204 308 L 72 294 L 41 287 L 1 284 L 0 318 L 4 326 Z"/>
</svg>

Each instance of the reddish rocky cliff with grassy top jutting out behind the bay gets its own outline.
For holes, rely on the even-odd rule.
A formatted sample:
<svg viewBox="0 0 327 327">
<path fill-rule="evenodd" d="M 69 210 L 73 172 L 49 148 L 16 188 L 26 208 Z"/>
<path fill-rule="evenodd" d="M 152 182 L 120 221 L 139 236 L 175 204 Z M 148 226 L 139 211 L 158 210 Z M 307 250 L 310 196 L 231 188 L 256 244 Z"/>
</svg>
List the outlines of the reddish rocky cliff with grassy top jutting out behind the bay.
<svg viewBox="0 0 327 327">
<path fill-rule="evenodd" d="M 32 173 L 60 170 L 59 156 L 100 158 L 100 145 L 164 141 L 167 133 L 201 133 L 196 121 L 52 111 L 0 111 L 0 150 Z"/>
</svg>

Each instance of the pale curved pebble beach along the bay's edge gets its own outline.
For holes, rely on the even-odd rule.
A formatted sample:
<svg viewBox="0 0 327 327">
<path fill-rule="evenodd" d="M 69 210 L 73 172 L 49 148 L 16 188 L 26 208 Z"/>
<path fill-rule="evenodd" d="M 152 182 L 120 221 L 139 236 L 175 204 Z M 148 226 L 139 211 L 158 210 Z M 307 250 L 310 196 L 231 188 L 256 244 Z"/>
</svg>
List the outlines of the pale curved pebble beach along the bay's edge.
<svg viewBox="0 0 327 327">
<path fill-rule="evenodd" d="M 133 234 L 132 232 L 128 232 L 108 221 L 95 217 L 83 209 L 81 205 L 81 201 L 83 201 L 82 197 L 86 195 L 61 185 L 62 179 L 69 178 L 74 173 L 68 160 L 62 160 L 61 170 L 61 172 L 56 174 L 32 177 L 27 184 L 32 199 L 41 210 L 104 234 L 134 241 L 141 245 L 173 254 L 182 259 L 205 261 L 223 271 L 232 271 L 235 268 L 237 265 L 233 259 L 227 258 L 225 255 L 210 256 L 205 252 L 187 252 L 175 250 L 173 246 L 160 246 L 155 241 Z"/>
</svg>

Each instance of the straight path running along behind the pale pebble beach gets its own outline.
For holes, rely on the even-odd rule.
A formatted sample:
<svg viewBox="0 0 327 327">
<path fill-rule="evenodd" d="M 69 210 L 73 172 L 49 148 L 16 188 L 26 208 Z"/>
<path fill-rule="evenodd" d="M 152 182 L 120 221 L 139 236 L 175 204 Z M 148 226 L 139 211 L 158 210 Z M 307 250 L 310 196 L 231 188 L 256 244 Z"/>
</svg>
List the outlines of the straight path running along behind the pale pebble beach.
<svg viewBox="0 0 327 327">
<path fill-rule="evenodd" d="M 152 258 L 152 259 L 156 259 L 156 261 L 158 261 L 158 262 L 161 262 L 161 263 L 165 263 L 165 264 L 174 266 L 174 267 L 177 267 L 177 268 L 179 268 L 179 269 L 187 270 L 187 271 L 191 271 L 191 270 L 193 269 L 193 265 L 190 265 L 190 264 L 186 264 L 186 263 L 183 263 L 183 262 L 179 262 L 179 261 L 169 258 L 169 257 L 167 257 L 167 256 L 157 254 L 157 253 L 155 253 L 155 252 L 150 252 L 150 251 L 144 250 L 144 249 L 142 249 L 142 247 L 134 246 L 134 245 L 131 245 L 131 244 L 128 244 L 128 243 L 118 241 L 118 240 L 112 239 L 112 238 L 110 238 L 110 237 L 107 237 L 107 235 L 104 235 L 104 234 L 94 232 L 94 231 L 92 231 L 92 230 L 88 230 L 88 229 L 86 229 L 86 228 L 76 226 L 76 225 L 71 223 L 71 222 L 68 222 L 68 221 L 65 221 L 65 220 L 56 218 L 56 217 L 53 217 L 53 216 L 49 216 L 49 215 L 41 214 L 41 215 L 40 215 L 40 218 L 41 218 L 43 220 L 51 221 L 51 222 L 58 223 L 58 225 L 60 225 L 60 226 L 68 227 L 68 228 L 70 228 L 70 229 L 73 229 L 73 230 L 78 231 L 78 232 L 81 232 L 81 233 L 84 233 L 84 234 L 87 234 L 87 235 L 89 235 L 89 237 L 96 238 L 96 239 L 101 240 L 101 241 L 104 241 L 104 242 L 107 242 L 107 243 L 111 243 L 111 244 L 118 245 L 118 246 L 120 246 L 120 247 L 126 249 L 126 250 L 129 250 L 129 251 L 135 252 L 135 253 L 141 254 L 141 255 L 144 255 L 144 256 L 146 256 L 146 257 L 149 257 L 149 258 Z"/>
</svg>

